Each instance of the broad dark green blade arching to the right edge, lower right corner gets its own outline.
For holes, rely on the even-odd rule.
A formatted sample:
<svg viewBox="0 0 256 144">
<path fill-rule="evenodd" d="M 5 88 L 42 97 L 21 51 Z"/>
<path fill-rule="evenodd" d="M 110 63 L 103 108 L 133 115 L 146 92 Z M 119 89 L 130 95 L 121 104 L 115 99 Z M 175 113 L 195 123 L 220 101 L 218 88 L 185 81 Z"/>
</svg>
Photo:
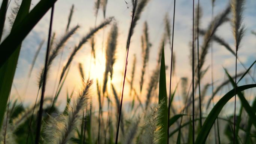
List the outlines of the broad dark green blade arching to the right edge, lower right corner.
<svg viewBox="0 0 256 144">
<path fill-rule="evenodd" d="M 244 91 L 246 89 L 255 88 L 256 84 L 252 85 L 243 85 L 238 86 L 236 89 L 236 94 L 238 94 L 241 91 Z M 204 124 L 202 125 L 202 128 L 196 138 L 195 144 L 204 144 L 208 134 L 211 130 L 211 127 L 213 126 L 214 121 L 216 120 L 217 116 L 219 115 L 220 111 L 224 107 L 224 105 L 235 95 L 235 89 L 232 89 L 228 93 L 226 93 L 213 107 L 213 109 L 208 114 L 207 118 L 204 121 Z M 255 115 L 254 115 L 255 116 Z M 252 116 L 253 117 L 253 116 Z M 255 116 L 256 117 L 256 116 Z M 253 122 L 253 124 L 256 126 L 256 121 Z"/>
</svg>

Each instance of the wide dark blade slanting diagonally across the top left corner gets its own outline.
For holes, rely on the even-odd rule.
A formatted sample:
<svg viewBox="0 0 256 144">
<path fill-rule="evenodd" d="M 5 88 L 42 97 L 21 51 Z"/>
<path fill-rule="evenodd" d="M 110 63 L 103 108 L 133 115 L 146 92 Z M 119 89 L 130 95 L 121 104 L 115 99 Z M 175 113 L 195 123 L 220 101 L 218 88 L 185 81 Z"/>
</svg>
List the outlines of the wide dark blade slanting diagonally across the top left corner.
<svg viewBox="0 0 256 144">
<path fill-rule="evenodd" d="M 31 0 L 24 0 L 24 1 L 31 1 Z M 24 2 L 22 1 L 22 3 Z M 32 30 L 32 28 L 39 22 L 39 20 L 45 15 L 45 13 L 51 8 L 51 6 L 57 0 L 41 0 L 39 3 L 31 10 L 30 13 L 26 13 L 24 18 L 18 18 L 17 15 L 17 25 L 18 27 L 13 27 L 13 30 L 6 37 L 6 39 L 0 45 L 0 67 L 3 66 L 4 62 L 7 61 L 8 58 L 15 52 L 28 33 Z M 22 4 L 21 4 L 22 6 Z M 22 8 L 22 7 L 21 7 Z M 21 9 L 20 8 L 20 9 Z M 15 22 L 16 22 L 15 19 Z M 13 24 L 15 26 L 15 24 Z M 15 40 L 15 43 L 13 43 Z M 8 49 L 7 49 L 8 48 Z"/>
</svg>

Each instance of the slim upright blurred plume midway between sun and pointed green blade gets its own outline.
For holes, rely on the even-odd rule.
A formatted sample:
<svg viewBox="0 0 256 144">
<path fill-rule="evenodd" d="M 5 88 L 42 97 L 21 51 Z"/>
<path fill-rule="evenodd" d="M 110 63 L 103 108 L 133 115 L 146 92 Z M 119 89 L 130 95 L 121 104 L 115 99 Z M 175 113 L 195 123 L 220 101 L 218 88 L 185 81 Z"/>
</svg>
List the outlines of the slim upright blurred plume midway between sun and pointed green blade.
<svg viewBox="0 0 256 144">
<path fill-rule="evenodd" d="M 141 70 L 141 78 L 140 78 L 140 93 L 142 91 L 143 83 L 144 83 L 144 74 L 146 71 L 147 63 L 149 61 L 149 34 L 148 34 L 148 26 L 147 22 L 144 22 L 143 26 L 143 35 L 141 36 L 141 45 L 142 45 L 142 59 L 143 59 L 143 66 Z"/>
</svg>

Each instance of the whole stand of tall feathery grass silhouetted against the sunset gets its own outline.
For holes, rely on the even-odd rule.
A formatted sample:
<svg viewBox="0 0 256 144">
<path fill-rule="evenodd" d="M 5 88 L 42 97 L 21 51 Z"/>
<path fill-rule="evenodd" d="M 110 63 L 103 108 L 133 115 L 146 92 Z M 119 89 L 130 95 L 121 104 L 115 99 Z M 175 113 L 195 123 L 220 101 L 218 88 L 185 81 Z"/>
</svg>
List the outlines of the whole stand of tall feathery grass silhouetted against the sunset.
<svg viewBox="0 0 256 144">
<path fill-rule="evenodd" d="M 213 143 L 213 141 L 219 144 L 256 143 L 256 98 L 254 96 L 255 92 L 252 91 L 256 84 L 254 80 L 255 73 L 250 73 L 252 68 L 255 67 L 256 60 L 249 59 L 250 67 L 247 68 L 238 58 L 240 47 L 247 46 L 247 43 L 243 43 L 243 45 L 241 43 L 245 31 L 243 24 L 244 0 L 232 0 L 226 8 L 212 17 L 206 29 L 201 28 L 200 25 L 204 22 L 202 12 L 205 7 L 200 7 L 198 0 L 198 5 L 194 8 L 195 3 L 193 1 L 193 26 L 192 31 L 189 31 L 189 33 L 192 33 L 192 61 L 190 62 L 192 70 L 188 71 L 192 73 L 192 79 L 188 77 L 179 78 L 179 73 L 174 74 L 175 63 L 179 60 L 179 55 L 174 56 L 174 52 L 180 50 L 179 48 L 174 49 L 174 44 L 176 44 L 176 41 L 174 43 L 174 40 L 176 40 L 174 35 L 174 31 L 176 31 L 174 30 L 174 24 L 176 24 L 174 19 L 174 16 L 176 16 L 175 0 L 173 21 L 169 20 L 168 15 L 164 17 L 159 53 L 156 54 L 151 53 L 156 43 L 152 39 L 151 24 L 148 23 L 149 21 L 143 23 L 140 19 L 143 10 L 150 3 L 149 0 L 125 1 L 127 6 L 132 5 L 131 21 L 127 26 L 129 31 L 127 31 L 128 37 L 125 43 L 120 41 L 120 34 L 124 31 L 119 28 L 123 27 L 121 25 L 123 23 L 119 23 L 114 17 L 106 17 L 107 0 L 96 0 L 94 5 L 95 25 L 85 36 L 80 38 L 77 44 L 73 44 L 61 73 L 58 73 L 58 76 L 54 78 L 57 80 L 57 89 L 54 86 L 54 94 L 45 97 L 48 86 L 51 86 L 47 82 L 47 77 L 52 74 L 52 70 L 57 69 L 54 67 L 54 62 L 61 67 L 64 48 L 80 28 L 79 25 L 72 26 L 72 18 L 75 16 L 74 11 L 76 10 L 73 4 L 67 16 L 68 21 L 64 28 L 64 34 L 62 37 L 56 38 L 58 35 L 55 36 L 55 33 L 52 33 L 51 30 L 52 21 L 55 20 L 52 9 L 45 65 L 42 71 L 37 73 L 39 76 L 37 90 L 41 100 L 37 102 L 36 98 L 33 105 L 26 105 L 27 99 L 24 102 L 19 102 L 10 97 L 21 43 L 56 1 L 40 0 L 31 11 L 29 11 L 31 1 L 22 1 L 20 6 L 15 8 L 16 17 L 12 17 L 13 24 L 10 33 L 0 43 L 0 144 L 208 144 Z M 6 12 L 8 12 L 6 11 L 7 4 L 8 1 L 3 0 L 0 8 L 1 37 L 3 36 Z M 214 6 L 214 0 L 212 6 Z M 97 25 L 97 18 L 101 18 L 98 17 L 100 10 L 103 12 L 103 19 Z M 232 15 L 230 15 L 231 13 Z M 227 22 L 231 22 L 235 50 L 229 44 L 228 39 L 223 39 L 216 34 L 217 30 Z M 139 38 L 135 34 L 139 33 L 136 25 L 143 27 L 140 32 L 142 36 Z M 110 27 L 110 29 L 107 29 L 107 27 Z M 109 30 L 109 34 L 106 40 L 104 40 L 103 34 L 102 46 L 97 46 L 98 43 L 96 42 L 99 40 L 96 35 L 102 29 L 104 31 Z M 177 31 L 177 34 L 179 34 L 179 31 Z M 252 33 L 252 36 L 253 34 L 255 33 Z M 15 43 L 13 42 L 14 39 Z M 141 47 L 142 53 L 141 56 L 140 53 L 133 54 L 130 67 L 128 65 L 131 56 L 129 50 L 136 49 L 135 45 L 130 44 L 135 39 L 141 40 L 141 45 L 138 45 L 137 48 Z M 197 40 L 196 45 L 194 45 L 195 40 Z M 101 59 L 101 61 L 106 59 L 104 70 L 96 71 L 93 67 L 89 68 L 89 65 L 79 63 L 76 70 L 80 74 L 80 83 L 78 84 L 81 86 L 80 92 L 76 92 L 74 88 L 73 91 L 68 92 L 70 88 L 67 88 L 67 102 L 64 105 L 64 110 L 62 110 L 58 105 L 58 100 L 63 94 L 63 89 L 65 89 L 64 83 L 68 83 L 69 70 L 73 68 L 71 67 L 72 63 L 76 63 L 74 59 L 76 59 L 77 53 L 81 52 L 80 49 L 83 46 L 86 48 L 85 44 L 88 41 L 90 42 L 90 48 L 92 48 L 91 57 L 94 58 L 90 65 L 96 65 L 98 59 Z M 42 51 L 43 42 L 42 40 L 39 48 L 36 49 L 31 67 L 28 70 L 28 77 L 27 75 L 24 76 L 27 78 L 27 83 L 25 83 L 27 86 L 31 75 L 33 75 L 33 68 L 37 65 L 37 57 L 41 56 L 40 51 Z M 212 55 L 213 48 L 215 48 L 212 46 L 213 43 L 222 46 L 223 51 L 227 50 L 235 56 L 234 73 L 231 75 L 224 68 L 223 74 L 227 79 L 224 78 L 221 82 L 213 79 L 215 77 L 213 73 L 215 67 L 211 66 L 211 76 L 207 75 L 209 65 L 213 65 L 215 61 Z M 167 51 L 169 50 L 169 48 L 167 49 L 168 46 L 171 52 Z M 98 55 L 99 47 L 102 48 L 100 50 L 105 54 L 103 58 L 98 58 L 100 57 Z M 118 59 L 120 49 L 126 52 L 125 62 L 122 65 L 118 65 L 122 63 Z M 211 52 L 210 64 L 206 61 L 209 51 Z M 169 52 L 171 57 L 168 97 L 168 84 L 166 83 L 168 77 L 166 70 L 168 68 L 165 62 L 169 61 L 167 57 Z M 59 54 L 61 54 L 61 60 L 57 62 L 55 59 Z M 157 58 L 155 65 L 151 64 L 151 55 Z M 141 59 L 137 59 L 139 56 Z M 237 61 L 241 63 L 243 69 L 240 70 Z M 138 67 L 140 64 L 141 67 Z M 123 65 L 123 77 L 118 79 L 116 66 L 122 67 Z M 89 68 L 89 72 L 84 68 Z M 128 68 L 131 68 L 131 73 L 128 72 Z M 231 72 L 231 70 L 229 71 Z M 102 74 L 103 79 L 97 77 L 95 80 L 91 80 L 90 72 Z M 207 78 L 211 79 L 211 82 L 205 82 Z M 118 87 L 116 79 L 122 84 L 121 94 L 118 94 L 119 92 L 116 89 Z M 127 82 L 129 85 L 125 85 Z M 191 85 L 188 87 L 189 83 Z M 176 85 L 175 88 L 173 88 L 174 85 Z M 25 86 L 25 93 L 27 86 Z M 232 86 L 232 88 L 229 88 L 229 86 Z M 16 86 L 14 87 L 16 88 Z M 210 87 L 212 89 L 209 95 Z M 28 87 L 28 89 L 30 88 Z M 223 89 L 228 92 L 223 94 Z M 124 101 L 126 95 L 131 98 L 131 101 Z M 221 96 L 218 100 L 216 100 L 217 95 Z M 254 97 L 251 97 L 251 95 Z M 236 98 L 237 96 L 239 101 Z M 95 105 L 92 100 L 93 97 L 97 97 L 98 105 Z M 234 105 L 230 102 L 232 99 L 235 100 Z M 214 102 L 212 107 L 210 105 L 211 101 Z M 226 113 L 225 108 L 229 108 L 230 104 L 232 104 L 231 113 Z M 236 111 L 238 106 L 240 106 L 239 112 Z M 34 113 L 37 113 L 37 117 L 34 117 Z M 215 123 L 217 123 L 217 126 L 214 126 Z M 121 129 L 120 134 L 119 129 Z M 213 131 L 214 134 L 211 134 Z"/>
</svg>

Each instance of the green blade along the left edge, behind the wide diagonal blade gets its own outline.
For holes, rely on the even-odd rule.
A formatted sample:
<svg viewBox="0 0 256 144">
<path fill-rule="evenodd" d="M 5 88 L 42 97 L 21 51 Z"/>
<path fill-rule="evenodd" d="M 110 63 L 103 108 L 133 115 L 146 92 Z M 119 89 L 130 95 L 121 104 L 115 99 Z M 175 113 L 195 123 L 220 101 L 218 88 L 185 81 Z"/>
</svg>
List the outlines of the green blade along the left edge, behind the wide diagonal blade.
<svg viewBox="0 0 256 144">
<path fill-rule="evenodd" d="M 12 30 L 11 33 L 13 31 L 15 31 L 15 29 L 23 29 L 23 27 L 19 27 L 21 25 L 19 25 L 21 19 L 23 19 L 25 17 L 25 15 L 28 14 L 29 9 L 30 9 L 30 4 L 31 4 L 31 0 L 23 0 L 21 3 L 21 6 L 19 8 L 19 11 L 17 13 L 17 16 L 15 18 L 15 21 L 13 23 L 12 26 Z M 20 36 L 20 33 L 16 34 L 17 37 Z M 14 43 L 13 42 L 14 39 L 10 40 L 10 43 Z M 16 39 L 15 39 L 16 40 Z M 4 40 L 5 41 L 5 40 Z M 3 117 L 4 117 L 4 112 L 6 109 L 6 104 L 7 104 L 7 100 L 10 94 L 10 90 L 12 88 L 12 81 L 13 81 L 13 77 L 15 74 L 15 70 L 16 70 L 16 65 L 18 62 L 18 58 L 19 58 L 19 51 L 21 49 L 21 42 L 22 40 L 20 40 L 20 42 L 15 42 L 16 45 L 13 47 L 13 52 L 10 53 L 9 57 L 7 57 L 5 59 L 5 61 L 2 61 L 2 56 L 0 56 L 0 128 L 3 122 Z M 3 43 L 2 43 L 3 44 Z M 2 45 L 1 44 L 1 45 Z M 6 49 L 8 48 L 8 49 Z M 0 55 L 5 55 L 6 51 L 9 51 L 10 47 L 9 45 L 6 45 L 4 47 L 0 48 Z"/>
</svg>

